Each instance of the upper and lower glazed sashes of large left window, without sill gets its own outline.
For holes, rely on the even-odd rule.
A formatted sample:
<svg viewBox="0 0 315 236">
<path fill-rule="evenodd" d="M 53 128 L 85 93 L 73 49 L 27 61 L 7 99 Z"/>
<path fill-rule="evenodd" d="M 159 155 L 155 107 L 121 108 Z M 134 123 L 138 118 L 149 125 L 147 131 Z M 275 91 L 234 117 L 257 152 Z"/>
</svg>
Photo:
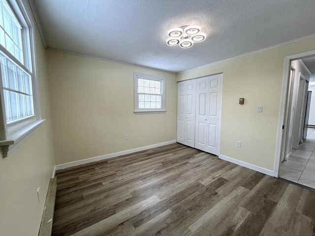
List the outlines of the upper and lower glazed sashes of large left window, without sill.
<svg viewBox="0 0 315 236">
<path fill-rule="evenodd" d="M 28 35 L 22 37 L 23 28 L 8 2 L 0 0 L 0 3 L 0 44 L 7 50 L 0 53 L 1 77 L 6 122 L 11 124 L 34 115 L 32 73 L 24 64 L 24 54 L 29 58 L 30 47 Z"/>
</svg>

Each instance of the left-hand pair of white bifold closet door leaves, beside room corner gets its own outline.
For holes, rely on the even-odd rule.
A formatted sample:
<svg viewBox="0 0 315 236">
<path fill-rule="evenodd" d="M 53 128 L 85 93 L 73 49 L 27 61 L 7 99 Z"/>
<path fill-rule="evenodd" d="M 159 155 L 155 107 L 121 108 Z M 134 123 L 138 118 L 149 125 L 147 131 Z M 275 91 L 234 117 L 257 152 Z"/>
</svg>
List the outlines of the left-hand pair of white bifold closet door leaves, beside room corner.
<svg viewBox="0 0 315 236">
<path fill-rule="evenodd" d="M 178 83 L 177 142 L 194 148 L 195 145 L 196 81 Z"/>
</svg>

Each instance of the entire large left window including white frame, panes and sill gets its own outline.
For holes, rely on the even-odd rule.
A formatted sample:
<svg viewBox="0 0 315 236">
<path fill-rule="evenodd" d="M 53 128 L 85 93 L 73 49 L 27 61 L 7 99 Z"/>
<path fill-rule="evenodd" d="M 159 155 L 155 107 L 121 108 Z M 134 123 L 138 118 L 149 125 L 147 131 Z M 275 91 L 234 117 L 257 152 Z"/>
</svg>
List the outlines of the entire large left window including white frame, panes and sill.
<svg viewBox="0 0 315 236">
<path fill-rule="evenodd" d="M 42 122 L 35 101 L 38 87 L 33 74 L 33 18 L 27 4 L 23 0 L 0 0 L 0 146 L 7 149 Z"/>
</svg>

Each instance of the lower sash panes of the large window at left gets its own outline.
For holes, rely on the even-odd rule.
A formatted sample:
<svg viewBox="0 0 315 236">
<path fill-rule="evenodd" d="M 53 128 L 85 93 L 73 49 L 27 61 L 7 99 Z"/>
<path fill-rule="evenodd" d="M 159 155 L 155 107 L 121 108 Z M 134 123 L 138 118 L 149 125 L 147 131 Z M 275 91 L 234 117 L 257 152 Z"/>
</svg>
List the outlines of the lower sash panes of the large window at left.
<svg viewBox="0 0 315 236">
<path fill-rule="evenodd" d="M 7 124 L 33 117 L 32 75 L 3 54 L 0 54 L 0 64 Z M 13 75 L 11 82 L 9 74 Z"/>
</svg>

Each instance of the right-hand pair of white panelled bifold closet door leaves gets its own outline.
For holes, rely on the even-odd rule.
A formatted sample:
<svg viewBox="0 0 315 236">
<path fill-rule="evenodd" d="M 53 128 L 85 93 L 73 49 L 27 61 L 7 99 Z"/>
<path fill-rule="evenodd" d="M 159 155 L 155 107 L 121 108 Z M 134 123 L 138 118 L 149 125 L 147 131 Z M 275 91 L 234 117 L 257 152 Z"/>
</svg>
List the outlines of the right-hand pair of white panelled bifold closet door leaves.
<svg viewBox="0 0 315 236">
<path fill-rule="evenodd" d="M 219 155 L 223 75 L 196 79 L 195 148 Z"/>
</svg>

